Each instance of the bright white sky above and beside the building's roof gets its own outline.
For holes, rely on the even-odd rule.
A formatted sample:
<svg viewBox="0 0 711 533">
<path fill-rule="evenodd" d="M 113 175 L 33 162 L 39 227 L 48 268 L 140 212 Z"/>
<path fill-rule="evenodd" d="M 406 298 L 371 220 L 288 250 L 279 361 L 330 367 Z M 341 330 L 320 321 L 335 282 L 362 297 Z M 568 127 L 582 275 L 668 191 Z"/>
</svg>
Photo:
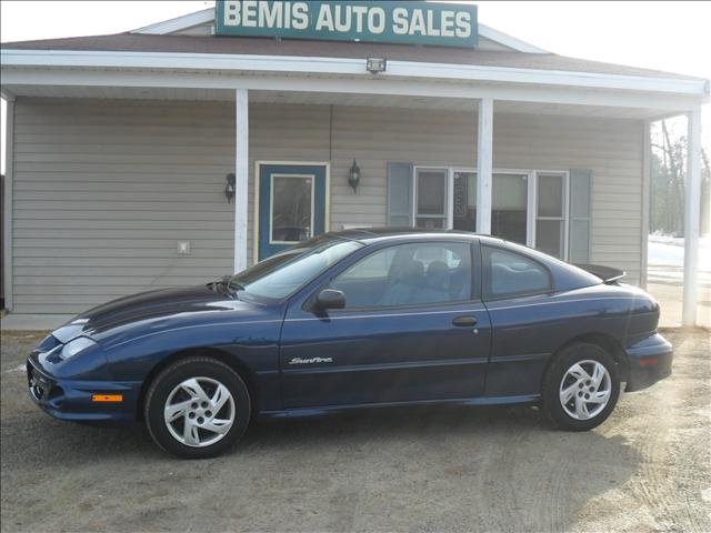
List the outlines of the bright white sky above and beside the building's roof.
<svg viewBox="0 0 711 533">
<path fill-rule="evenodd" d="M 480 22 L 544 50 L 711 79 L 711 2 L 478 1 Z M 118 33 L 214 6 L 208 1 L 0 1 L 0 41 Z M 711 109 L 703 109 L 711 147 Z M 2 102 L 4 147 L 4 101 Z M 683 123 L 677 123 L 683 129 Z M 4 172 L 4 149 L 2 150 Z"/>
</svg>

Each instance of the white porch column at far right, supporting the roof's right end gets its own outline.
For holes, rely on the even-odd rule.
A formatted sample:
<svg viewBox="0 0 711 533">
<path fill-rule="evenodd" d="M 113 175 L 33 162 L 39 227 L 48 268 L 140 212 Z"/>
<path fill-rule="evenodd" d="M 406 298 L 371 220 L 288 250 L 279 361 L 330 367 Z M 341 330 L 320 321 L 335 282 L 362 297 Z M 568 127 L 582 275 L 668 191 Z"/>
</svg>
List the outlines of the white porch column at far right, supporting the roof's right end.
<svg viewBox="0 0 711 533">
<path fill-rule="evenodd" d="M 684 202 L 684 301 L 683 325 L 697 325 L 699 218 L 701 215 L 701 107 L 687 113 L 687 199 Z"/>
</svg>

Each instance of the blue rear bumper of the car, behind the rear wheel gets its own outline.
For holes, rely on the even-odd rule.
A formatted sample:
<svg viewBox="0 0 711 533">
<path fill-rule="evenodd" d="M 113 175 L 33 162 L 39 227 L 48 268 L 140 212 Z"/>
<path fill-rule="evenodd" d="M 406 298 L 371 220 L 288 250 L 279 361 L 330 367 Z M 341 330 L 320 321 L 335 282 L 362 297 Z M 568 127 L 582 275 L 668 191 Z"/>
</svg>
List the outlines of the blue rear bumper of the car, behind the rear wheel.
<svg viewBox="0 0 711 533">
<path fill-rule="evenodd" d="M 673 346 L 659 333 L 627 349 L 630 363 L 625 392 L 641 391 L 671 375 Z"/>
</svg>

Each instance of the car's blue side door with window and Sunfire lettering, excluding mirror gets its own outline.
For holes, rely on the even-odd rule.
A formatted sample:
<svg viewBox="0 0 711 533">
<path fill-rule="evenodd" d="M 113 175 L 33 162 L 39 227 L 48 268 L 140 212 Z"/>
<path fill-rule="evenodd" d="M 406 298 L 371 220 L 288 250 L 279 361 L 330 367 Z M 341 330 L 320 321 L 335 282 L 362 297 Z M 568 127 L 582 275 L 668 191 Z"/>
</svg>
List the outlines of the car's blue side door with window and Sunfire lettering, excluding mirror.
<svg viewBox="0 0 711 533">
<path fill-rule="evenodd" d="M 480 395 L 491 326 L 473 252 L 470 239 L 371 244 L 292 302 L 280 348 L 284 406 Z M 324 288 L 343 291 L 346 308 L 314 311 Z"/>
</svg>

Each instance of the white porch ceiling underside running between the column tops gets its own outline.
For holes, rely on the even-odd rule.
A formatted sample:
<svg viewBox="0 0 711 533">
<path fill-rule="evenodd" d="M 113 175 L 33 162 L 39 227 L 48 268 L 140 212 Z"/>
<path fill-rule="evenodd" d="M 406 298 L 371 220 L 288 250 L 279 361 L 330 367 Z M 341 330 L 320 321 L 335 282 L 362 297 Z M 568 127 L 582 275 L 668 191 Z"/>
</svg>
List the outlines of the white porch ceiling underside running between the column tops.
<svg viewBox="0 0 711 533">
<path fill-rule="evenodd" d="M 140 88 L 140 87 L 91 87 L 91 86 L 3 86 L 16 97 L 32 98 L 82 98 L 128 100 L 184 100 L 184 101 L 233 101 L 234 91 L 228 89 L 192 88 Z M 434 98 L 338 92 L 266 91 L 250 90 L 250 102 L 360 105 L 383 108 L 427 108 L 461 110 L 475 107 L 475 100 L 459 98 Z M 495 101 L 498 113 L 552 114 L 565 117 L 617 118 L 630 120 L 654 119 L 669 114 L 653 108 L 621 108 L 560 103 Z"/>
</svg>

